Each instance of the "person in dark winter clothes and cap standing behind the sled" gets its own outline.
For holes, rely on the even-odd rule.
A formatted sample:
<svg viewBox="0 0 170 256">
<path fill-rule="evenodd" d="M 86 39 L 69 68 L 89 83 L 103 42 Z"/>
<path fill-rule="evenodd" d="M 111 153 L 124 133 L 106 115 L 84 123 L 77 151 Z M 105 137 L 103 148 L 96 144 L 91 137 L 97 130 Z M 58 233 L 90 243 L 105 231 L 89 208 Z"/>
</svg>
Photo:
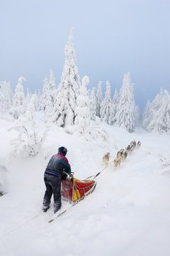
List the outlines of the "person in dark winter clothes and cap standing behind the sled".
<svg viewBox="0 0 170 256">
<path fill-rule="evenodd" d="M 52 194 L 54 196 L 54 213 L 60 210 L 62 206 L 61 179 L 71 174 L 71 167 L 68 159 L 65 157 L 67 149 L 60 146 L 58 153 L 53 155 L 45 169 L 44 181 L 46 186 L 42 210 L 46 212 L 50 208 Z M 63 178 L 64 177 L 64 178 Z"/>
</svg>

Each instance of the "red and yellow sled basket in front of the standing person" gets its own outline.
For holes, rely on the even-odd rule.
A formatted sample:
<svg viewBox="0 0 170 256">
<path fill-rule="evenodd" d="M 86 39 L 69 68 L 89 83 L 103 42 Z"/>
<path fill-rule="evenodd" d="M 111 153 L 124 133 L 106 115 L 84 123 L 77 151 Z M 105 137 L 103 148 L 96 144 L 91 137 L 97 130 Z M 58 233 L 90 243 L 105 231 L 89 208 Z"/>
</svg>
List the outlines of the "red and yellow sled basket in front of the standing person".
<svg viewBox="0 0 170 256">
<path fill-rule="evenodd" d="M 96 181 L 79 180 L 77 178 L 62 181 L 62 199 L 74 203 L 83 199 L 96 188 Z"/>
</svg>

